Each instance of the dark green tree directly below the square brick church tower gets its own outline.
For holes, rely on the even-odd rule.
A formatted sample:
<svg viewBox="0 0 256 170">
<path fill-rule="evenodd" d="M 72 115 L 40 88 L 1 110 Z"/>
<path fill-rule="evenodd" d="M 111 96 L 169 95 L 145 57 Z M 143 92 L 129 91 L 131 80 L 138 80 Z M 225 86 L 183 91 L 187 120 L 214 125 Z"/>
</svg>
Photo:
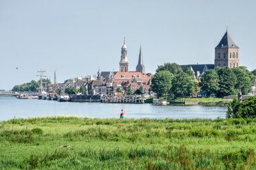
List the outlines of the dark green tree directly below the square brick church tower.
<svg viewBox="0 0 256 170">
<path fill-rule="evenodd" d="M 236 89 L 236 75 L 232 69 L 228 67 L 217 67 L 215 68 L 219 77 L 219 91 L 218 96 L 236 95 L 238 90 Z"/>
</svg>

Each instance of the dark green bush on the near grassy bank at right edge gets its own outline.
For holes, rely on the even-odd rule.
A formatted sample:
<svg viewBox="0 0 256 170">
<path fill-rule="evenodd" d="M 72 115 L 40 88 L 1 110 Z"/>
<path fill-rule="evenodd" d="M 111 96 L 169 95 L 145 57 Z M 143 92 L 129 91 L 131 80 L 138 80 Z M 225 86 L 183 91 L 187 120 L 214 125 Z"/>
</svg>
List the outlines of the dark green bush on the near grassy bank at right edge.
<svg viewBox="0 0 256 170">
<path fill-rule="evenodd" d="M 237 98 L 228 105 L 227 118 L 256 118 L 256 97 L 240 102 Z"/>
</svg>

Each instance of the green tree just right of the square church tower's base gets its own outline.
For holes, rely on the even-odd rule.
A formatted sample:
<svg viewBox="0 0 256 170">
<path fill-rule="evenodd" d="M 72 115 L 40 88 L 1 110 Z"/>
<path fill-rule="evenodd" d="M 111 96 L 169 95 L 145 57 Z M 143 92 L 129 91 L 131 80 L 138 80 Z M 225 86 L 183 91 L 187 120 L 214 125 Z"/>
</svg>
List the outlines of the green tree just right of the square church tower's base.
<svg viewBox="0 0 256 170">
<path fill-rule="evenodd" d="M 244 67 L 233 68 L 232 71 L 236 75 L 236 89 L 241 89 L 243 95 L 250 93 L 252 90 L 252 75 L 251 73 Z"/>
</svg>

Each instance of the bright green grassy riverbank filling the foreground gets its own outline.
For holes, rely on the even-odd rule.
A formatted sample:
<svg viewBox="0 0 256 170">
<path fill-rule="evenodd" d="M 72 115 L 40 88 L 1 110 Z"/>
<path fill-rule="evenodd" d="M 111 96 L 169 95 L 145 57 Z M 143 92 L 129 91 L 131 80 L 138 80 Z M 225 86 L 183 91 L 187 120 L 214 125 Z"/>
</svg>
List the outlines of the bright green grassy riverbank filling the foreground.
<svg viewBox="0 0 256 170">
<path fill-rule="evenodd" d="M 0 169 L 254 169 L 256 120 L 13 119 Z"/>
</svg>

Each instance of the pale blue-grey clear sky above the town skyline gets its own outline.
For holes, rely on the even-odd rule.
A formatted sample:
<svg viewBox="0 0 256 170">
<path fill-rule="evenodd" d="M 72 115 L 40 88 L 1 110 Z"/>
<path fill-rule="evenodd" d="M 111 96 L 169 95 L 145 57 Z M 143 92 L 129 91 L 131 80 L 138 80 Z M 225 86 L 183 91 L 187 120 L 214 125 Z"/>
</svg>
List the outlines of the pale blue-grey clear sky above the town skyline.
<svg viewBox="0 0 256 170">
<path fill-rule="evenodd" d="M 0 89 L 118 71 L 121 47 L 135 71 L 140 45 L 146 72 L 164 63 L 214 64 L 228 26 L 240 65 L 256 68 L 256 1 L 0 0 Z M 18 68 L 18 69 L 17 69 Z"/>
</svg>

